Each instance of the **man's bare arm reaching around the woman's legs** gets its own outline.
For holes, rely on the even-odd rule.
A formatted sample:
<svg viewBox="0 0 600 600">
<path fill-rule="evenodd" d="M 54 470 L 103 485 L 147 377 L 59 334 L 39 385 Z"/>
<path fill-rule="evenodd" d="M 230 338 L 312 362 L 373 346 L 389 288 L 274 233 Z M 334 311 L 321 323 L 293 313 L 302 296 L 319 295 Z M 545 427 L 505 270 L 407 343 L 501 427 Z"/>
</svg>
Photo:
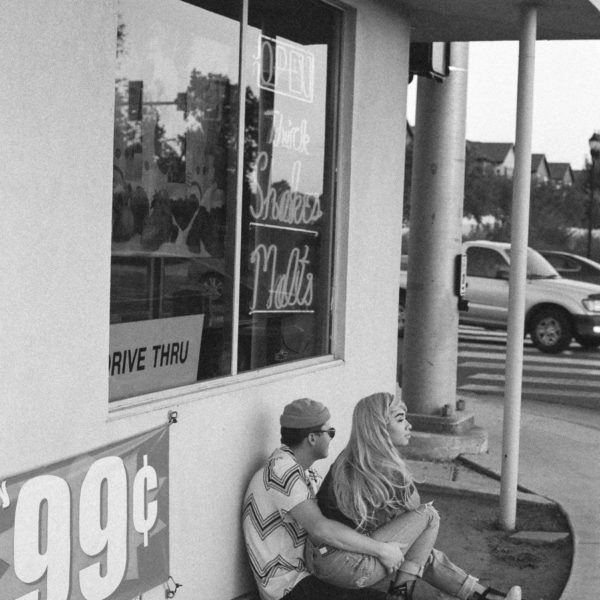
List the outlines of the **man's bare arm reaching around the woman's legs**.
<svg viewBox="0 0 600 600">
<path fill-rule="evenodd" d="M 374 556 L 390 573 L 404 561 L 402 549 L 406 544 L 379 542 L 343 523 L 327 519 L 315 500 L 305 500 L 297 504 L 289 514 L 307 531 L 316 544 L 329 544 L 341 550 Z"/>
</svg>

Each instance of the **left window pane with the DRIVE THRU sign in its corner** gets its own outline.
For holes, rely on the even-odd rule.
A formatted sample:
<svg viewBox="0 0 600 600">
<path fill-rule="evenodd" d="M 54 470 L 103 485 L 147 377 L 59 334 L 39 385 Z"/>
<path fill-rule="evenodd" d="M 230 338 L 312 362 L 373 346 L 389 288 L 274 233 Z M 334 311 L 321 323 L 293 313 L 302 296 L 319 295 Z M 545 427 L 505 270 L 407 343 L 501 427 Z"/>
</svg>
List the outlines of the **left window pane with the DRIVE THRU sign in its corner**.
<svg viewBox="0 0 600 600">
<path fill-rule="evenodd" d="M 240 11 L 118 3 L 111 400 L 230 372 Z"/>
</svg>

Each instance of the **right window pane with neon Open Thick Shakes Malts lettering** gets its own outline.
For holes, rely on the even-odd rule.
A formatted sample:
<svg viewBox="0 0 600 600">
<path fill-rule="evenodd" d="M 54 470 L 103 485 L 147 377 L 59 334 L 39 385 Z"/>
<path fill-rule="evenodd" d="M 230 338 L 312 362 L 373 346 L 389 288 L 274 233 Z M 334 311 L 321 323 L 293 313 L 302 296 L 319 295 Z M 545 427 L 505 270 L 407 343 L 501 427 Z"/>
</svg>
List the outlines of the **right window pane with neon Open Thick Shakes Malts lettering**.
<svg viewBox="0 0 600 600">
<path fill-rule="evenodd" d="M 240 370 L 329 352 L 338 19 L 249 2 Z"/>
</svg>

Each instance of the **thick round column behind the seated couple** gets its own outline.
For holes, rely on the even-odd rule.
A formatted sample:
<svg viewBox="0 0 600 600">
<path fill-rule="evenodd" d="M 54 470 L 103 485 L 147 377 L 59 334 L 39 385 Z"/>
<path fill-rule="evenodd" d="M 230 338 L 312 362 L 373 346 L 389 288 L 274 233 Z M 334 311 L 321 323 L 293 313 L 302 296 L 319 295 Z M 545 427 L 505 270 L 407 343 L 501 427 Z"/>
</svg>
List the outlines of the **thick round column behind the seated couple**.
<svg viewBox="0 0 600 600">
<path fill-rule="evenodd" d="M 451 44 L 449 76 L 420 78 L 417 90 L 402 398 L 421 415 L 456 397 L 468 56 L 468 43 Z"/>
</svg>

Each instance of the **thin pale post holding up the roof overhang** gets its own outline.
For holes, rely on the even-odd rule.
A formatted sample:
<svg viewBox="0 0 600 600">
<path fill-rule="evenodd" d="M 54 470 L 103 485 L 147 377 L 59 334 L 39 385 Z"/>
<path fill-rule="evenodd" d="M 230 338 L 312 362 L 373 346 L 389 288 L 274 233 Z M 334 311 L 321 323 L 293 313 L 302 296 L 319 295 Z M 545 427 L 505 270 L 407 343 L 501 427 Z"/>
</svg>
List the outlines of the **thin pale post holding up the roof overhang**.
<svg viewBox="0 0 600 600">
<path fill-rule="evenodd" d="M 510 234 L 510 291 L 502 430 L 502 480 L 500 485 L 500 522 L 507 531 L 515 529 L 517 511 L 536 31 L 537 9 L 534 6 L 523 6 L 519 40 L 515 171 Z"/>
</svg>

